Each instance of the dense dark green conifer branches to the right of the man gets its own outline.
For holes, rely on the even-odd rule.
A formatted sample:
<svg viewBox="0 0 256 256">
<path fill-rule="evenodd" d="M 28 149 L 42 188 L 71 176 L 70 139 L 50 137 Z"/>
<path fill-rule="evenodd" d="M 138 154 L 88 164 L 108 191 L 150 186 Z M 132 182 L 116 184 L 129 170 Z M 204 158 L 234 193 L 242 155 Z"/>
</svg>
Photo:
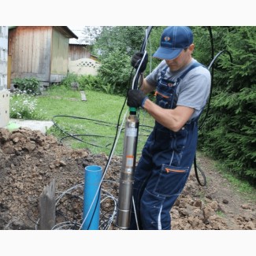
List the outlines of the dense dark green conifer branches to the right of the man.
<svg viewBox="0 0 256 256">
<path fill-rule="evenodd" d="M 232 60 L 222 54 L 214 64 L 210 111 L 198 146 L 255 183 L 256 27 L 214 27 L 213 35 L 215 50 L 228 50 Z"/>
</svg>

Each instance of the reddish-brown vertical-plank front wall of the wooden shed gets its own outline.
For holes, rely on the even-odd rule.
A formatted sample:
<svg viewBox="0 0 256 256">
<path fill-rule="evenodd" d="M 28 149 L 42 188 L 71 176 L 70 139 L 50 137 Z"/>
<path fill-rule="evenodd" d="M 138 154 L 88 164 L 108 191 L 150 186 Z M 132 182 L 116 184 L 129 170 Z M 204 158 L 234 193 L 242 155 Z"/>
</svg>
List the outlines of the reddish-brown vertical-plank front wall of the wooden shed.
<svg viewBox="0 0 256 256">
<path fill-rule="evenodd" d="M 50 79 L 52 27 L 26 26 L 9 30 L 9 55 L 12 58 L 11 80 L 35 76 Z"/>
</svg>

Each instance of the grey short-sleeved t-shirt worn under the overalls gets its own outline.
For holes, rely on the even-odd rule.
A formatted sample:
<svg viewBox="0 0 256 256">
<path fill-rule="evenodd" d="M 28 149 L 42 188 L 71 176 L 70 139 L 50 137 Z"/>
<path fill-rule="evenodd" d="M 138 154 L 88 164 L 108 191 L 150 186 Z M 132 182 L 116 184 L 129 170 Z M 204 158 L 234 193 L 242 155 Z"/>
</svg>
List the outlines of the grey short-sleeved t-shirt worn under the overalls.
<svg viewBox="0 0 256 256">
<path fill-rule="evenodd" d="M 184 71 L 196 60 L 193 58 L 192 61 L 179 71 L 172 72 L 168 68 L 165 72 L 166 80 L 176 81 Z M 161 76 L 161 70 L 166 68 L 165 61 L 161 61 L 156 69 L 153 70 L 147 77 L 146 80 L 153 87 L 157 87 L 158 79 Z M 207 98 L 210 95 L 210 71 L 202 66 L 198 66 L 195 69 L 187 72 L 184 79 L 180 81 L 176 89 L 175 102 L 177 106 L 187 106 L 195 109 L 192 118 L 198 117 L 202 112 L 203 107 L 206 105 Z"/>
</svg>

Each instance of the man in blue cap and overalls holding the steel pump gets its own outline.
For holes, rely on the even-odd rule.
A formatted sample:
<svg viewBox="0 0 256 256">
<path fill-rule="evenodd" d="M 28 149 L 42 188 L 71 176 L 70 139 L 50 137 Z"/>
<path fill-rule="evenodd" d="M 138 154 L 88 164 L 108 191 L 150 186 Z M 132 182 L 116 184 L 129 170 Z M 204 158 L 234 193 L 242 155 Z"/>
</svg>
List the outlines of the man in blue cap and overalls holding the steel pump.
<svg viewBox="0 0 256 256">
<path fill-rule="evenodd" d="M 128 92 L 128 106 L 143 107 L 155 119 L 135 169 L 129 229 L 171 229 L 170 210 L 189 176 L 198 117 L 210 94 L 210 72 L 192 58 L 194 49 L 190 28 L 165 28 L 153 55 L 161 63 L 139 90 Z M 147 58 L 137 53 L 132 65 L 143 72 Z M 155 91 L 155 103 L 146 96 L 150 91 Z"/>
</svg>

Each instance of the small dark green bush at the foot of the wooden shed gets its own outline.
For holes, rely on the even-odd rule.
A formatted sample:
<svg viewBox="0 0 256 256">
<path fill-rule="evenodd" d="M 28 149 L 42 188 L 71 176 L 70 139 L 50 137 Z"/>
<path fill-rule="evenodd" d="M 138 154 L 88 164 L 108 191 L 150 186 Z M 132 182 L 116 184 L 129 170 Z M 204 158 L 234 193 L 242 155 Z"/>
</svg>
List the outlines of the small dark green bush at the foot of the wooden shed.
<svg viewBox="0 0 256 256">
<path fill-rule="evenodd" d="M 20 91 L 24 91 L 28 95 L 41 94 L 39 90 L 40 82 L 36 77 L 14 78 L 13 83 L 14 87 Z"/>
</svg>

